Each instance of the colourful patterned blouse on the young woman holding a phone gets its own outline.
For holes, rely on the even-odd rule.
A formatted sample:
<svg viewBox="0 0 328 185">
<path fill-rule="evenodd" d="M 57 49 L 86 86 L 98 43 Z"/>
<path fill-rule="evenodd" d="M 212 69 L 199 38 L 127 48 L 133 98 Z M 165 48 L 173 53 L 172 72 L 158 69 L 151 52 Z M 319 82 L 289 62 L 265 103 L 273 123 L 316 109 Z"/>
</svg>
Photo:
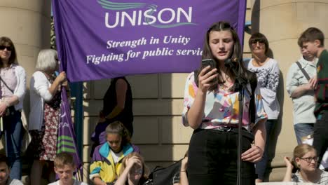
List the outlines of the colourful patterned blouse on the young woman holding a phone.
<svg viewBox="0 0 328 185">
<path fill-rule="evenodd" d="M 185 126 L 189 126 L 186 114 L 192 106 L 198 90 L 194 79 L 194 74 L 191 72 L 191 74 L 189 74 L 186 79 L 186 85 L 184 89 L 184 110 L 182 112 L 182 123 Z M 250 84 L 247 85 L 247 88 L 250 92 L 252 92 Z M 219 126 L 238 127 L 238 94 L 238 92 L 231 92 L 230 90 L 226 90 L 221 86 L 219 86 L 218 90 L 216 91 L 207 91 L 204 115 L 199 128 L 214 129 L 218 128 Z M 247 93 L 247 90 L 244 90 L 244 95 L 242 126 L 246 130 L 250 131 L 255 124 L 257 124 L 260 120 L 267 119 L 268 116 L 264 112 L 261 94 L 257 88 L 254 92 L 257 113 L 255 116 L 255 123 L 250 125 L 250 95 Z"/>
</svg>

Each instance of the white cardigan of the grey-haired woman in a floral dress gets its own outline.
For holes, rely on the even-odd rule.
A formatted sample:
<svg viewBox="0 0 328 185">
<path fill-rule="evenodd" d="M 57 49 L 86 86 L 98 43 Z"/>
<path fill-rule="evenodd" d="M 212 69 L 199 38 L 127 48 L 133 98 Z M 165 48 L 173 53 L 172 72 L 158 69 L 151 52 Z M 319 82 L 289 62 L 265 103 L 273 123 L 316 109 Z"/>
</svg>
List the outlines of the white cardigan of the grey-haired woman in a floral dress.
<svg viewBox="0 0 328 185">
<path fill-rule="evenodd" d="M 41 71 L 36 71 L 32 75 L 29 83 L 29 130 L 41 130 L 43 124 L 43 105 L 53 99 L 53 95 L 49 92 L 51 86 L 50 81 Z"/>
</svg>

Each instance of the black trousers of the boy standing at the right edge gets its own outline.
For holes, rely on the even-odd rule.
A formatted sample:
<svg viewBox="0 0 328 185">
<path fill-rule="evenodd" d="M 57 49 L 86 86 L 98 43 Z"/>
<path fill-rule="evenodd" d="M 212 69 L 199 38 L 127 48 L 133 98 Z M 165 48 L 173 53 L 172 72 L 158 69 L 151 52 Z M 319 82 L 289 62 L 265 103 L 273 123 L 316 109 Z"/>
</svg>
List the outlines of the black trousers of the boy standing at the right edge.
<svg viewBox="0 0 328 185">
<path fill-rule="evenodd" d="M 319 160 L 317 161 L 318 167 L 321 163 L 322 156 L 328 148 L 328 112 L 323 112 L 318 116 L 317 122 L 314 124 L 313 146 L 317 151 Z"/>
</svg>

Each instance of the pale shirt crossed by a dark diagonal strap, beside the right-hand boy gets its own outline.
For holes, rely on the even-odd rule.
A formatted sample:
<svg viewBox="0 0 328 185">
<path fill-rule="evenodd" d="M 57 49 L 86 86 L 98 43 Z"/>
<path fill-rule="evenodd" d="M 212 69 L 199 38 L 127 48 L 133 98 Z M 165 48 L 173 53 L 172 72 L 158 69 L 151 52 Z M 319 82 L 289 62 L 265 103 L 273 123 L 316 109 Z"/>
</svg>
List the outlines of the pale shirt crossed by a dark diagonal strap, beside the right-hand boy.
<svg viewBox="0 0 328 185">
<path fill-rule="evenodd" d="M 316 62 L 307 61 L 301 56 L 299 63 L 301 67 L 306 71 L 308 76 L 312 78 L 317 74 Z M 302 73 L 299 66 L 294 62 L 288 70 L 286 79 L 286 90 L 289 95 L 294 93 L 294 90 L 301 85 L 308 84 L 308 79 Z M 300 97 L 292 98 L 294 105 L 294 124 L 297 123 L 315 123 L 315 115 L 313 111 L 315 109 L 314 90 L 308 90 Z"/>
</svg>

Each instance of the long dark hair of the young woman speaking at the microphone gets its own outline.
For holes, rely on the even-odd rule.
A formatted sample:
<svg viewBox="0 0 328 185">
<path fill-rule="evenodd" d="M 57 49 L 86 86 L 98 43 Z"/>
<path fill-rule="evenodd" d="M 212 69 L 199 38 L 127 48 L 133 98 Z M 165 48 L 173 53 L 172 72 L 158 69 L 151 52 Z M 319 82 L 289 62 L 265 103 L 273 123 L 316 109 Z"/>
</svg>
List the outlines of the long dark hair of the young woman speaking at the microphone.
<svg viewBox="0 0 328 185">
<path fill-rule="evenodd" d="M 242 64 L 242 50 L 241 50 L 241 46 L 240 46 L 240 41 L 239 41 L 239 37 L 238 34 L 235 32 L 235 29 L 233 29 L 233 27 L 231 27 L 231 25 L 228 22 L 224 22 L 224 21 L 220 21 L 220 22 L 215 22 L 210 29 L 207 30 L 206 32 L 206 36 L 205 36 L 205 41 L 204 41 L 204 48 L 203 48 L 203 55 L 202 55 L 202 59 L 212 59 L 216 62 L 217 58 L 214 57 L 212 50 L 210 48 L 210 33 L 211 32 L 221 32 L 221 31 L 229 31 L 231 32 L 232 38 L 233 38 L 233 52 L 231 53 L 231 55 L 228 57 L 231 60 L 237 60 L 237 62 L 232 62 L 233 63 L 233 67 L 235 69 L 238 69 L 239 74 L 242 78 L 245 78 L 245 80 L 247 82 L 250 81 L 254 81 L 256 80 L 256 75 L 253 74 L 251 71 L 248 71 L 245 67 L 244 64 Z M 200 69 L 198 69 L 198 72 L 201 71 L 203 69 L 203 67 L 200 67 Z M 236 84 L 238 83 L 238 81 L 236 81 L 236 76 L 233 73 L 233 69 L 231 69 L 231 67 L 227 67 L 226 68 L 226 72 L 233 78 L 235 79 L 235 83 L 233 85 L 233 91 L 238 90 L 238 88 L 236 88 Z M 215 79 L 216 83 L 213 83 L 213 85 L 210 87 L 210 90 L 217 90 L 217 86 L 218 84 L 224 84 L 225 81 L 223 80 L 222 74 L 220 70 L 217 70 L 218 76 Z M 198 74 L 195 74 L 198 76 Z M 198 82 L 196 82 L 198 83 Z"/>
</svg>

